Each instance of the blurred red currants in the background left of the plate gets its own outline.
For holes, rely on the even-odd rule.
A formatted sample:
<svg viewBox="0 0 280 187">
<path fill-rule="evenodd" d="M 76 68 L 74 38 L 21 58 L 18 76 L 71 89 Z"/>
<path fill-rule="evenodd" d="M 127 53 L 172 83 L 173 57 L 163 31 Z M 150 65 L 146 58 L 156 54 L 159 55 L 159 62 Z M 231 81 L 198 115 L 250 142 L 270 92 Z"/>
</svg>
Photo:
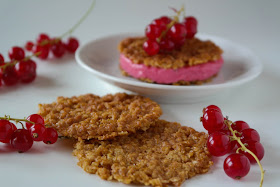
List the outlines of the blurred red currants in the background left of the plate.
<svg viewBox="0 0 280 187">
<path fill-rule="evenodd" d="M 40 59 L 47 59 L 51 51 L 53 56 L 60 58 L 66 51 L 74 53 L 79 47 L 76 38 L 70 37 L 66 42 L 60 38 L 50 39 L 47 34 L 40 34 L 36 45 L 29 41 L 25 49 Z M 24 49 L 18 46 L 12 47 L 9 52 L 10 62 L 5 63 L 4 57 L 0 54 L 0 86 L 2 82 L 6 86 L 13 86 L 18 82 L 30 83 L 36 78 L 36 63 L 32 56 L 25 56 Z"/>
</svg>

